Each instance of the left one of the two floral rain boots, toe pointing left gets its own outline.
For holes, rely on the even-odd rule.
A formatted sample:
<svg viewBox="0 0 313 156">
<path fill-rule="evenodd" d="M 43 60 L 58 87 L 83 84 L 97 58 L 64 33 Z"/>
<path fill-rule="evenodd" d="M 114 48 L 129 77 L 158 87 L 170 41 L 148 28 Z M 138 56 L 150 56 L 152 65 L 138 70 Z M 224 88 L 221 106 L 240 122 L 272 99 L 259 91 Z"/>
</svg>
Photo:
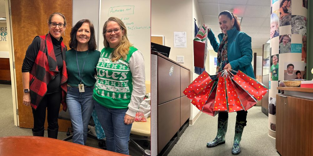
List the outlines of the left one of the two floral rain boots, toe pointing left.
<svg viewBox="0 0 313 156">
<path fill-rule="evenodd" d="M 219 144 L 225 144 L 227 124 L 228 124 L 228 119 L 224 120 L 224 119 L 218 118 L 217 135 L 213 141 L 207 143 L 207 147 L 215 147 Z"/>
</svg>

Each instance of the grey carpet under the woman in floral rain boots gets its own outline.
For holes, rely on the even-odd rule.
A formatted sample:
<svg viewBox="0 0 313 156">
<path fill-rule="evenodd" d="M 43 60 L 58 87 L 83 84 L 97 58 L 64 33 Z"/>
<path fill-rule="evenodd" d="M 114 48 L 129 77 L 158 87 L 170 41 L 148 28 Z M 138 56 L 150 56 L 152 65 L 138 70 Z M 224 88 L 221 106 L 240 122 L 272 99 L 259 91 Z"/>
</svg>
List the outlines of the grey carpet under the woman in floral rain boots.
<svg viewBox="0 0 313 156">
<path fill-rule="evenodd" d="M 196 123 L 189 126 L 168 155 L 171 156 L 202 156 L 202 155 L 232 155 L 233 138 L 235 134 L 235 112 L 229 113 L 226 143 L 213 148 L 206 144 L 217 134 L 218 115 L 213 117 L 202 113 Z M 241 153 L 247 156 L 274 156 L 279 154 L 275 149 L 275 139 L 268 136 L 268 117 L 261 112 L 261 106 L 248 110 L 247 126 L 242 135 Z"/>
</svg>

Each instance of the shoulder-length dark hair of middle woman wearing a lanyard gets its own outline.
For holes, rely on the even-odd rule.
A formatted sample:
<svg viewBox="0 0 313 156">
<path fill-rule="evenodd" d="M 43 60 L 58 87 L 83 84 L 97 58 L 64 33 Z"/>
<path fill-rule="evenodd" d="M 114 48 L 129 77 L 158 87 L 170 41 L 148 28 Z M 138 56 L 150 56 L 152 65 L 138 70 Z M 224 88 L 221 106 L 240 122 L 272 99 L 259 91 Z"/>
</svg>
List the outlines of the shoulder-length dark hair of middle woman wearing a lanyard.
<svg viewBox="0 0 313 156">
<path fill-rule="evenodd" d="M 70 33 L 70 40 L 69 40 L 69 47 L 71 49 L 74 49 L 77 47 L 77 39 L 76 39 L 76 33 L 77 30 L 83 25 L 83 23 L 88 23 L 90 27 L 90 40 L 88 42 L 88 49 L 89 50 L 95 50 L 97 49 L 97 44 L 96 44 L 96 37 L 95 37 L 95 28 L 94 25 L 90 22 L 88 19 L 82 19 L 78 21 L 74 27 L 71 29 Z"/>
</svg>

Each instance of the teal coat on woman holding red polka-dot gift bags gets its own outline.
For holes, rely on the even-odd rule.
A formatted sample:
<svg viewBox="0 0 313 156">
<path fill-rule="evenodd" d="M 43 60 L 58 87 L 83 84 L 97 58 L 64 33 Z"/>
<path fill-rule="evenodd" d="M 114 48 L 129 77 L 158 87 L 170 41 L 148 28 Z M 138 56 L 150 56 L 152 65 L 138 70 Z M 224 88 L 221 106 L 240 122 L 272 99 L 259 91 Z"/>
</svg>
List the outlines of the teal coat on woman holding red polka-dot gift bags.
<svg viewBox="0 0 313 156">
<path fill-rule="evenodd" d="M 252 62 L 251 37 L 244 32 L 239 32 L 236 28 L 228 30 L 228 50 L 227 59 L 234 71 L 242 71 L 248 76 L 254 77 Z M 222 41 L 224 34 L 218 34 L 219 42 Z M 208 33 L 208 39 L 215 52 L 218 52 L 219 43 L 217 42 L 212 30 Z"/>
</svg>

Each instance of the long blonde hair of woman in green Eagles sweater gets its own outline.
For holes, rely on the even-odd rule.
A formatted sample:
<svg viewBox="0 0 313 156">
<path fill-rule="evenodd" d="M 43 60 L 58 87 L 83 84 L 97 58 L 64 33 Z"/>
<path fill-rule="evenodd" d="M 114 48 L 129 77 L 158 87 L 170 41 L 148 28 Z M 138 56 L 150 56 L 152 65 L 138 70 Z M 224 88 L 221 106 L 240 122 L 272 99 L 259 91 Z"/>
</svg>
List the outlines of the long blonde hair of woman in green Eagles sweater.
<svg viewBox="0 0 313 156">
<path fill-rule="evenodd" d="M 124 31 L 124 35 L 122 36 L 122 40 L 121 42 L 114 48 L 112 54 L 111 54 L 111 60 L 112 62 L 114 61 L 117 61 L 121 58 L 123 58 L 123 60 L 126 60 L 127 58 L 127 54 L 128 54 L 128 51 L 129 51 L 129 47 L 132 46 L 131 42 L 128 40 L 127 38 L 127 29 L 126 29 L 126 26 L 124 25 L 124 23 L 122 22 L 122 20 L 120 20 L 119 18 L 116 18 L 116 17 L 110 17 L 105 23 L 104 23 L 104 26 L 103 26 L 103 31 L 102 31 L 102 35 L 103 35 L 103 45 L 105 47 L 110 47 L 109 45 L 109 42 L 106 40 L 105 38 L 105 29 L 106 29 L 106 26 L 108 25 L 109 22 L 111 21 L 114 21 L 116 22 L 117 24 L 120 25 L 121 27 L 121 31 Z M 121 32 L 120 32 L 121 33 Z"/>
</svg>

